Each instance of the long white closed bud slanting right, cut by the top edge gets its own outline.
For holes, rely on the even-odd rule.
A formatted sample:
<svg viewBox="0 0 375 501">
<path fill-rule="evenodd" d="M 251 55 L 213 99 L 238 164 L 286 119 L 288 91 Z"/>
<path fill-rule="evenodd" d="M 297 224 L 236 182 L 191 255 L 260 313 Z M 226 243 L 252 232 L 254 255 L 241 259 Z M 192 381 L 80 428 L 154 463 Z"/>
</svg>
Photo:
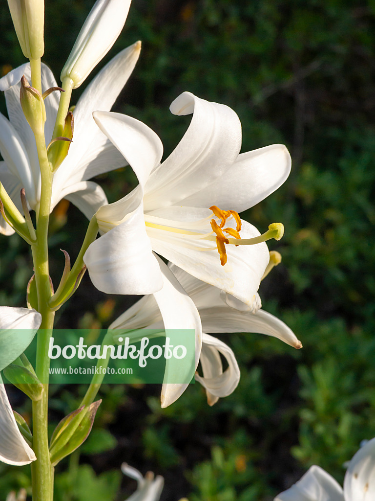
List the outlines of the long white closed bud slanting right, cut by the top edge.
<svg viewBox="0 0 375 501">
<path fill-rule="evenodd" d="M 87 16 L 61 71 L 61 82 L 70 78 L 73 89 L 114 44 L 125 24 L 131 0 L 97 0 Z"/>
</svg>

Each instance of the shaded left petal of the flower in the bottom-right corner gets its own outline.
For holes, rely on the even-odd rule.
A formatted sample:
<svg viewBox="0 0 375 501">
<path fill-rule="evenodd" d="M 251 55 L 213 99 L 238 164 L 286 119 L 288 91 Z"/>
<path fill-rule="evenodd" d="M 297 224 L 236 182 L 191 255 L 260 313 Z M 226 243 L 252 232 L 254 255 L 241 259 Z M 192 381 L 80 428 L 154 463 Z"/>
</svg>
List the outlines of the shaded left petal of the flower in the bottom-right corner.
<svg viewBox="0 0 375 501">
<path fill-rule="evenodd" d="M 290 489 L 278 494 L 274 501 L 344 501 L 344 496 L 336 480 L 314 465 Z"/>
</svg>

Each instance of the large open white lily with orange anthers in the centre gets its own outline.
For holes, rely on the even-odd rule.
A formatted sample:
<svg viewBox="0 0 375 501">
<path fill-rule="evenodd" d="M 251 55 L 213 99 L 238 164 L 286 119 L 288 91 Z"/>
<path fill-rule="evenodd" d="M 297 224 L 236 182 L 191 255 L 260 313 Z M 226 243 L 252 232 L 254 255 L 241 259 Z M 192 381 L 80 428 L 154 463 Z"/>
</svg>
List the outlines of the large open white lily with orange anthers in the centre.
<svg viewBox="0 0 375 501">
<path fill-rule="evenodd" d="M 289 153 L 282 145 L 272 145 L 239 155 L 241 126 L 227 106 L 184 92 L 170 109 L 193 116 L 182 140 L 161 164 L 161 141 L 146 125 L 117 113 L 94 113 L 139 184 L 96 212 L 105 234 L 84 256 L 91 280 L 106 293 L 153 293 L 162 286 L 154 250 L 251 306 L 269 254 L 257 229 L 240 223 L 237 212 L 283 183 L 290 171 Z M 219 225 L 226 226 L 225 235 Z M 240 243 L 253 237 L 260 243 L 235 246 L 238 236 Z M 227 263 L 221 266 L 226 255 Z"/>
</svg>

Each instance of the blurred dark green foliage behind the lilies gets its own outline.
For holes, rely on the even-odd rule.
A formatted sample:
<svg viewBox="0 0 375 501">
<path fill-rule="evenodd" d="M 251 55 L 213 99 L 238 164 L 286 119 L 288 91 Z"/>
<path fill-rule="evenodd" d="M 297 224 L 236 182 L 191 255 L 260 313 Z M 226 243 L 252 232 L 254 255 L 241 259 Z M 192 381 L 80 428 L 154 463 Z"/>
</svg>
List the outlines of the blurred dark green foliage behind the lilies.
<svg viewBox="0 0 375 501">
<path fill-rule="evenodd" d="M 44 62 L 57 80 L 92 3 L 47 3 Z M 0 33 L 4 74 L 24 62 L 4 2 Z M 263 308 L 294 330 L 303 349 L 257 334 L 222 335 L 241 381 L 212 408 L 198 384 L 164 410 L 157 385 L 104 386 L 81 454 L 58 468 L 56 501 L 124 499 L 135 482 L 121 476 L 122 461 L 162 474 L 163 501 L 268 501 L 311 464 L 341 482 L 344 461 L 375 435 L 375 2 L 133 0 L 103 64 L 136 40 L 141 57 L 114 110 L 155 130 L 165 156 L 189 123 L 168 111 L 185 90 L 237 112 L 242 151 L 277 142 L 289 148 L 289 179 L 244 218 L 260 230 L 275 220 L 285 225 L 283 239 L 269 244 L 282 264 L 259 292 Z M 6 113 L 4 100 L 0 106 Z M 100 183 L 113 201 L 134 177 L 123 169 Z M 76 256 L 85 224 L 67 203 L 55 209 L 55 282 L 58 249 Z M 0 249 L 0 304 L 25 306 L 28 249 L 16 236 L 1 238 Z M 105 327 L 131 301 L 100 294 L 86 276 L 56 326 Z M 52 388 L 52 422 L 83 392 Z M 27 417 L 29 403 L 9 394 Z M 22 486 L 29 486 L 28 467 L 1 464 L 1 501 Z"/>
</svg>

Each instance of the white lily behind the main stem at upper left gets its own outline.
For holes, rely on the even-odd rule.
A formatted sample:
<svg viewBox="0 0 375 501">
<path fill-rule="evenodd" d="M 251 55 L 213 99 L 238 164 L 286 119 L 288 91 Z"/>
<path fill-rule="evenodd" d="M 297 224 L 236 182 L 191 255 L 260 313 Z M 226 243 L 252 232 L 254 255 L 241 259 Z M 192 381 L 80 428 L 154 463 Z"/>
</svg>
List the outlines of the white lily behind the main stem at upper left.
<svg viewBox="0 0 375 501">
<path fill-rule="evenodd" d="M 87 86 L 74 108 L 74 136 L 67 157 L 54 174 L 51 210 L 66 198 L 91 218 L 95 211 L 107 203 L 102 188 L 88 181 L 103 172 L 125 165 L 120 153 L 100 132 L 92 119 L 96 109 L 110 110 L 122 87 L 129 78 L 140 53 L 136 42 L 115 56 Z M 0 90 L 5 91 L 9 121 L 0 114 L 0 181 L 17 208 L 22 211 L 19 192 L 25 189 L 31 209 L 40 199 L 40 169 L 33 133 L 26 122 L 19 102 L 20 79 L 30 78 L 29 64 L 22 65 L 0 79 Z M 55 87 L 56 81 L 45 65 L 41 65 L 43 90 Z M 52 138 L 57 114 L 59 94 L 53 92 L 44 101 L 46 144 Z M 0 218 L 0 232 L 13 230 Z"/>
</svg>

